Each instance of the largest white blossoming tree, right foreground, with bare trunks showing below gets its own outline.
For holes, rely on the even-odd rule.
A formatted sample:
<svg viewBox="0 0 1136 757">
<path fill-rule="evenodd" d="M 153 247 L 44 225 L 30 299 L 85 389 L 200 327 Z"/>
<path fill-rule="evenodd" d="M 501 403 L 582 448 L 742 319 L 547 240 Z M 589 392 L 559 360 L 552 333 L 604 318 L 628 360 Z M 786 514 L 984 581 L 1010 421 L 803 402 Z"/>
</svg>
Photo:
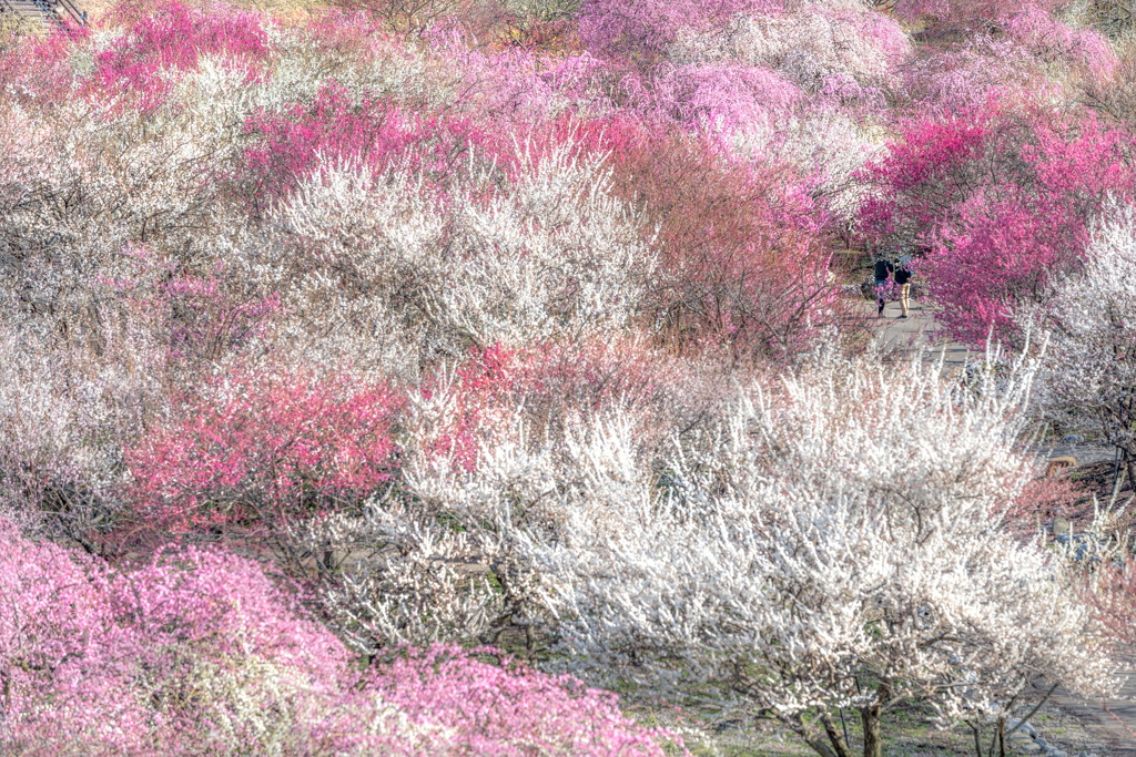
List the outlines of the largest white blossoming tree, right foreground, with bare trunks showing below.
<svg viewBox="0 0 1136 757">
<path fill-rule="evenodd" d="M 523 555 L 577 672 L 715 691 L 826 757 L 851 754 L 836 715 L 858 708 L 878 756 L 901 703 L 977 731 L 1112 683 L 1064 566 L 1002 515 L 1034 474 L 1012 448 L 1030 377 L 827 359 L 662 457 L 617 412 L 409 478 Z"/>
</svg>

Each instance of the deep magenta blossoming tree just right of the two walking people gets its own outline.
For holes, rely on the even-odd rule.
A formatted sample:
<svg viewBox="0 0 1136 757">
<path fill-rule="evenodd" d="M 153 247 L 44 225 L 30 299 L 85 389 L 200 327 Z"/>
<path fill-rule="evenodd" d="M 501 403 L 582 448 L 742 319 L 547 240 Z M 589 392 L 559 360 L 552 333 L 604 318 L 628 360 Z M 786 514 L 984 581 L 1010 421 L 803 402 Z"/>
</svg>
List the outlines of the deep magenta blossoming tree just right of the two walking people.
<svg viewBox="0 0 1136 757">
<path fill-rule="evenodd" d="M 1136 190 L 1131 135 L 1092 116 L 1072 124 L 996 106 L 916 119 L 866 174 L 869 244 L 929 251 L 922 271 L 957 337 L 1014 339 L 1013 311 L 1076 270 L 1087 224 L 1110 194 Z"/>
</svg>

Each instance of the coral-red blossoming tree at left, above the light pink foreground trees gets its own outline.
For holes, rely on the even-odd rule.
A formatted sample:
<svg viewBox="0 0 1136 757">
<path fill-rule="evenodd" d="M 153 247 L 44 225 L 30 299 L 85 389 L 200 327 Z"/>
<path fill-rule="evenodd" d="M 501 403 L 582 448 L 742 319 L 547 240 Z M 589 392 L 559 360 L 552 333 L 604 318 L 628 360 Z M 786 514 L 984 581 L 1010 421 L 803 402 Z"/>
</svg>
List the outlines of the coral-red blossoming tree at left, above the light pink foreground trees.
<svg viewBox="0 0 1136 757">
<path fill-rule="evenodd" d="M 147 528 L 272 529 L 357 505 L 395 468 L 398 395 L 348 375 L 236 370 L 126 451 Z"/>
</svg>

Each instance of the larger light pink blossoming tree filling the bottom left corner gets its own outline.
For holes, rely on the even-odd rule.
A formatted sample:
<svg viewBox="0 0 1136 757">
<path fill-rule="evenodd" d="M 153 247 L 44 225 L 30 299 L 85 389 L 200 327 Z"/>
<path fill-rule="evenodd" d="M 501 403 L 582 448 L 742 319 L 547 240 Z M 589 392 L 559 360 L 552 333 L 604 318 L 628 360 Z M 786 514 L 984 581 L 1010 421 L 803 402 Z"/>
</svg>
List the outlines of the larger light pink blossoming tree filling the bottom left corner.
<svg viewBox="0 0 1136 757">
<path fill-rule="evenodd" d="M 348 680 L 254 563 L 191 550 L 116 573 L 0 528 L 6 750 L 270 749 Z"/>
</svg>

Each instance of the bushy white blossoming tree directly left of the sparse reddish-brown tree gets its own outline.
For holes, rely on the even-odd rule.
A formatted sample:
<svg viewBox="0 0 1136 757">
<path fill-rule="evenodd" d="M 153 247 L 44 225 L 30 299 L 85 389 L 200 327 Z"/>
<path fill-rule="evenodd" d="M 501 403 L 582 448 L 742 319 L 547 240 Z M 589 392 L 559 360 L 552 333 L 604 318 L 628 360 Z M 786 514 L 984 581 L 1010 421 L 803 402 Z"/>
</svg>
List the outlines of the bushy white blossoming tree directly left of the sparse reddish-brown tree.
<svg viewBox="0 0 1136 757">
<path fill-rule="evenodd" d="M 445 196 L 421 176 L 341 168 L 306 182 L 281 222 L 323 270 L 420 335 L 420 351 L 615 334 L 636 314 L 653 255 L 601 162 L 570 144 L 523 153 L 515 182 L 474 173 Z"/>
</svg>

